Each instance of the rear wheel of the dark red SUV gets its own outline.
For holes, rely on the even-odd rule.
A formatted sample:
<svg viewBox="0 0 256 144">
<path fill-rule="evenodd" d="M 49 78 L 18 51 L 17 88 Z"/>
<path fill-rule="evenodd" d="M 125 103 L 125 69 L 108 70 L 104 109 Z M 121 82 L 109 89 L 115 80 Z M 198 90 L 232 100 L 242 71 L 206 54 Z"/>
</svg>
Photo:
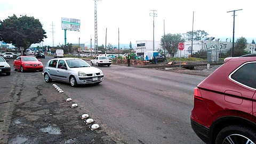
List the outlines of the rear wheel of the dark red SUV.
<svg viewBox="0 0 256 144">
<path fill-rule="evenodd" d="M 256 131 L 243 126 L 227 126 L 219 132 L 215 143 L 256 143 Z"/>
</svg>

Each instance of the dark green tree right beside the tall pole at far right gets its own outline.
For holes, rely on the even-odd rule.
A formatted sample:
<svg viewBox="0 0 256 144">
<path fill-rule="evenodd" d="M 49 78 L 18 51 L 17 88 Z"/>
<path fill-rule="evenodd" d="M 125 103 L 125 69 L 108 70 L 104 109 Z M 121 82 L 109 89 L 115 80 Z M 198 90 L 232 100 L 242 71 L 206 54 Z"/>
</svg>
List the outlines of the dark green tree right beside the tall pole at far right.
<svg viewBox="0 0 256 144">
<path fill-rule="evenodd" d="M 250 52 L 245 51 L 247 45 L 247 39 L 245 37 L 239 37 L 236 39 L 235 47 L 234 47 L 234 57 L 239 57 L 244 54 L 249 54 Z M 228 51 L 231 53 L 232 48 Z"/>
</svg>

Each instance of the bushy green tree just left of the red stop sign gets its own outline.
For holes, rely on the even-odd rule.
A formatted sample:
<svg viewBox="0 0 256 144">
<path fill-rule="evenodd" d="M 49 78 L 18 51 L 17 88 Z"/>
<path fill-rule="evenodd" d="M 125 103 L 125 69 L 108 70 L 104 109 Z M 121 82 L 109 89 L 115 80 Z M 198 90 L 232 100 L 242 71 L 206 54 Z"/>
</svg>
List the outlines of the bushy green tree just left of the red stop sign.
<svg viewBox="0 0 256 144">
<path fill-rule="evenodd" d="M 162 48 L 167 50 L 172 57 L 174 57 L 174 54 L 177 53 L 178 44 L 180 42 L 185 42 L 185 39 L 182 38 L 181 34 L 167 34 L 161 38 Z"/>
</svg>

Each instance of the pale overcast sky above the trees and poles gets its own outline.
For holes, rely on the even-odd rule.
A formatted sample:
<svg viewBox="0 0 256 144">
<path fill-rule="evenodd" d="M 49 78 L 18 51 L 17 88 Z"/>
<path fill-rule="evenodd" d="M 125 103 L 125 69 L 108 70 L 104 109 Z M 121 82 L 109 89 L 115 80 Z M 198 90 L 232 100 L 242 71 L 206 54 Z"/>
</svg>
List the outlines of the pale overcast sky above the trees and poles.
<svg viewBox="0 0 256 144">
<path fill-rule="evenodd" d="M 153 17 L 150 10 L 157 10 L 155 17 L 155 41 L 161 41 L 165 34 L 186 33 L 192 30 L 194 11 L 194 30 L 205 30 L 209 36 L 226 38 L 233 36 L 233 12 L 235 17 L 235 38 L 245 37 L 247 42 L 256 40 L 255 0 L 102 0 L 97 2 L 98 45 L 105 45 L 106 28 L 107 44 L 129 44 L 136 41 L 153 41 Z M 43 45 L 52 46 L 52 22 L 54 25 L 54 45 L 64 44 L 64 30 L 61 29 L 61 18 L 81 20 L 79 31 L 67 30 L 67 43 L 90 45 L 94 43 L 94 0 L 73 1 L 30 1 L 0 0 L 0 20 L 11 15 L 27 15 L 39 19 L 46 31 L 47 38 Z M 37 44 L 39 45 L 39 44 Z"/>
</svg>

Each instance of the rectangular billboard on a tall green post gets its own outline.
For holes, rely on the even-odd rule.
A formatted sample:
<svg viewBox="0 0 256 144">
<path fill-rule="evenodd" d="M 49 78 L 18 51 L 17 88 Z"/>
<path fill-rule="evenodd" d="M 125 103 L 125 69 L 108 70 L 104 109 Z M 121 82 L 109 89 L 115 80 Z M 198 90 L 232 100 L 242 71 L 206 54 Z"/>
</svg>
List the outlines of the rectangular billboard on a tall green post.
<svg viewBox="0 0 256 144">
<path fill-rule="evenodd" d="M 80 29 L 80 20 L 70 19 L 70 18 L 61 18 L 61 28 L 62 29 Z"/>
</svg>

